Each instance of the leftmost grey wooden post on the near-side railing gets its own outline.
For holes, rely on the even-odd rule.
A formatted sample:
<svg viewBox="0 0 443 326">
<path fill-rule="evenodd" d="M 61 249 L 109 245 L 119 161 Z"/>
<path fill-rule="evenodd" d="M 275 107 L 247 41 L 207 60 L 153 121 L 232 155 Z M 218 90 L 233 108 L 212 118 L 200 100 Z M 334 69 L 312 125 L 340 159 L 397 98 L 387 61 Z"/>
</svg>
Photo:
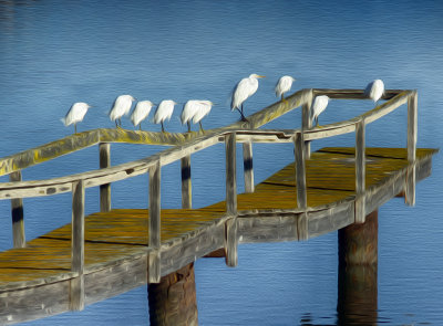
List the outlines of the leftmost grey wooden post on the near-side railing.
<svg viewBox="0 0 443 326">
<path fill-rule="evenodd" d="M 72 238 L 71 238 L 71 271 L 79 273 L 71 280 L 72 311 L 84 308 L 84 181 L 72 182 Z"/>
</svg>

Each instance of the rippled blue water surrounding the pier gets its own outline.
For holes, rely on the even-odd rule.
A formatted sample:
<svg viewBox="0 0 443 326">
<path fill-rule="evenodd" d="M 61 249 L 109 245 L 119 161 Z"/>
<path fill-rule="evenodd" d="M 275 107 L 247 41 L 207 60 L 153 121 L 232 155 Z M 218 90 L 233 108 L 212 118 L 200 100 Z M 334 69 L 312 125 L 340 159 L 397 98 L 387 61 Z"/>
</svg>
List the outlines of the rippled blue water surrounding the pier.
<svg viewBox="0 0 443 326">
<path fill-rule="evenodd" d="M 419 90 L 419 147 L 440 147 L 443 129 L 443 2 L 440 1 L 0 1 L 0 157 L 70 135 L 60 122 L 74 102 L 92 108 L 79 130 L 113 127 L 106 112 L 131 94 L 158 103 L 207 98 L 217 103 L 205 128 L 233 123 L 229 93 L 258 73 L 249 115 L 276 101 L 278 77 L 305 87 Z M 370 102 L 331 102 L 320 123 L 352 117 Z M 179 108 L 166 129 L 184 132 Z M 406 109 L 368 127 L 368 146 L 404 146 Z M 132 128 L 128 119 L 124 127 Z M 293 128 L 300 112 L 268 125 Z M 159 126 L 144 124 L 151 130 Z M 353 146 L 353 135 L 313 144 Z M 113 145 L 112 164 L 161 147 Z M 254 147 L 259 182 L 293 159 L 287 145 Z M 272 151 L 270 155 L 269 153 Z M 275 159 L 277 158 L 278 159 Z M 23 171 L 42 179 L 97 168 L 96 147 Z M 207 182 L 208 170 L 212 182 Z M 224 199 L 223 146 L 193 157 L 194 204 Z M 418 185 L 416 206 L 393 199 L 379 211 L 378 322 L 442 325 L 442 158 Z M 179 207 L 178 165 L 162 171 L 162 206 Z M 240 176 L 238 177 L 241 180 Z M 8 180 L 1 177 L 0 181 Z M 243 185 L 239 185 L 241 191 Z M 147 206 L 146 179 L 113 185 L 115 208 Z M 86 213 L 99 210 L 86 190 Z M 0 202 L 0 249 L 11 246 L 9 201 Z M 24 200 L 27 238 L 71 219 L 71 194 Z M 303 243 L 239 246 L 236 269 L 223 260 L 196 263 L 200 325 L 336 325 L 337 233 Z M 146 325 L 146 287 L 29 325 Z"/>
</svg>

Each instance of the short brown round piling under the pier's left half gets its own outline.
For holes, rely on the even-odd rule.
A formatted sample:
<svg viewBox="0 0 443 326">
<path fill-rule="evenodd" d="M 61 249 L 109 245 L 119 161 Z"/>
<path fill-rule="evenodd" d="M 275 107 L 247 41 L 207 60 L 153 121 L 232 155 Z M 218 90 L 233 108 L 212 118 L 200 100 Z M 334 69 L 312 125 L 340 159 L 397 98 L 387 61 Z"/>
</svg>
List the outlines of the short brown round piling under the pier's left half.
<svg viewBox="0 0 443 326">
<path fill-rule="evenodd" d="M 151 325 L 198 325 L 194 263 L 150 284 Z"/>
</svg>

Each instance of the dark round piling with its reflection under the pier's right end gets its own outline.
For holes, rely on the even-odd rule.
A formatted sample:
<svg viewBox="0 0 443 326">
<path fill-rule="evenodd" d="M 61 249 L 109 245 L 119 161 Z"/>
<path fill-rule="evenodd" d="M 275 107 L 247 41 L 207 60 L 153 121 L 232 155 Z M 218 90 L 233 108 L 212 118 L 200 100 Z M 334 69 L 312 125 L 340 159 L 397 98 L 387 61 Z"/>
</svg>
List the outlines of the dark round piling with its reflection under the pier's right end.
<svg viewBox="0 0 443 326">
<path fill-rule="evenodd" d="M 378 211 L 339 230 L 338 325 L 377 325 Z"/>
</svg>

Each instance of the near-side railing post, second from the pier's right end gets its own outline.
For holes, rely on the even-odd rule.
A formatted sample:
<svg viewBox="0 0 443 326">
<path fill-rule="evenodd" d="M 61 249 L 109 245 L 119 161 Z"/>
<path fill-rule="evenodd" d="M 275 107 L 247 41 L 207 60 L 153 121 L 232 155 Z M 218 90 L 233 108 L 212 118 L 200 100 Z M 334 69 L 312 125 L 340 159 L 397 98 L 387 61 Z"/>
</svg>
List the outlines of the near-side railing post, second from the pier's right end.
<svg viewBox="0 0 443 326">
<path fill-rule="evenodd" d="M 364 223 L 365 220 L 365 123 L 362 118 L 356 124 L 356 223 Z"/>
</svg>

